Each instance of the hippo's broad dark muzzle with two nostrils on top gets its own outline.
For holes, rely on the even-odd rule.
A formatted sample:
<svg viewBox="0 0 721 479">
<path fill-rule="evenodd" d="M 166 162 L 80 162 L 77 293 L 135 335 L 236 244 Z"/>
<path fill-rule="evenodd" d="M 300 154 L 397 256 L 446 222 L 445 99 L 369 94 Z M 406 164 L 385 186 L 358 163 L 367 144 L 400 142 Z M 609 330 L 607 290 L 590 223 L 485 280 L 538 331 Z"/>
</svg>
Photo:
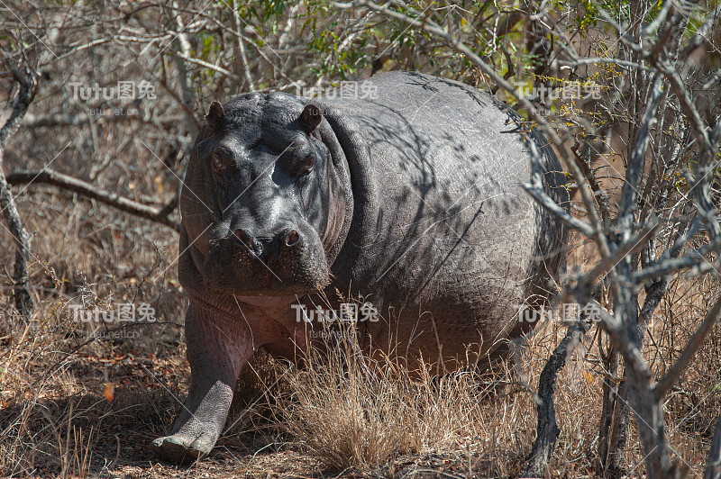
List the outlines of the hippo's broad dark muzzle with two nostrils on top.
<svg viewBox="0 0 721 479">
<path fill-rule="evenodd" d="M 249 240 L 234 233 L 211 240 L 203 278 L 208 291 L 243 296 L 305 295 L 324 289 L 330 274 L 323 248 L 297 230 L 278 238 Z M 319 243 L 319 242 L 318 242 Z"/>
</svg>

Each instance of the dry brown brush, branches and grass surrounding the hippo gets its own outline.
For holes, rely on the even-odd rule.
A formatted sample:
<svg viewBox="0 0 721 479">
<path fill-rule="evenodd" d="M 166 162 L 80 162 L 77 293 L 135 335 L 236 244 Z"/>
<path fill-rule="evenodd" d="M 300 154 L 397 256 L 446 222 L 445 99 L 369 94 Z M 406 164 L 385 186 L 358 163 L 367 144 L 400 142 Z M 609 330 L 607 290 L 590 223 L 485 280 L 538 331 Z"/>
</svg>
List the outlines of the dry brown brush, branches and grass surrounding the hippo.
<svg viewBox="0 0 721 479">
<path fill-rule="evenodd" d="M 667 472 L 662 457 L 648 459 L 633 415 L 624 440 L 610 421 L 627 419 L 622 406 L 634 401 L 622 384 L 630 378 L 653 393 L 721 294 L 716 251 L 695 252 L 719 233 L 717 3 L 604 4 L 610 14 L 595 3 L 533 1 L 3 5 L 0 476 L 525 473 L 539 377 L 566 333 L 559 322 L 540 325 L 489 370 L 443 377 L 361 358 L 351 331 L 329 355 L 311 351 L 305 367 L 260 355 L 210 457 L 176 467 L 146 448 L 187 393 L 175 198 L 207 104 L 391 68 L 460 79 L 516 104 L 557 140 L 575 182 L 576 217 L 566 220 L 586 236 L 570 245 L 565 294 L 593 294 L 609 315 L 568 351 L 555 393 L 560 435 L 544 474 L 618 465 L 629 476 L 649 474 L 647 465 Z M 504 92 L 512 82 L 564 79 L 593 80 L 602 101 L 530 102 Z M 127 80 L 150 82 L 154 97 L 87 99 L 71 86 Z M 643 231 L 653 234 L 638 251 L 634 234 Z M 618 258 L 626 247 L 632 253 Z M 675 258 L 686 262 L 669 266 Z M 666 269 L 653 276 L 653 267 Z M 634 302 L 637 317 L 624 309 Z M 157 321 L 74 316 L 77 304 L 116 312 L 123 303 L 150 304 Z M 640 339 L 616 335 L 609 348 L 611 315 L 640 324 Z M 671 390 L 649 402 L 662 412 L 669 445 L 653 450 L 691 476 L 703 474 L 721 411 L 721 329 L 710 331 Z M 635 347 L 646 383 L 622 368 Z"/>
</svg>

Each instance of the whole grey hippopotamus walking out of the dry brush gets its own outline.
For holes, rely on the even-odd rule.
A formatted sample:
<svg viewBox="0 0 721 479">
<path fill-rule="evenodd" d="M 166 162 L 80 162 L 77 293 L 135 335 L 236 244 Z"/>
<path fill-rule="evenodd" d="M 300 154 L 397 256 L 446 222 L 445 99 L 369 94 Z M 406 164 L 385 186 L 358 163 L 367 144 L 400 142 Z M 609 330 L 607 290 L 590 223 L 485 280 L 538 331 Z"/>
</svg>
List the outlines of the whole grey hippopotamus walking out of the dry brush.
<svg viewBox="0 0 721 479">
<path fill-rule="evenodd" d="M 391 72 L 350 92 L 210 105 L 180 194 L 191 384 L 156 454 L 209 453 L 242 366 L 261 346 L 311 347 L 327 315 L 305 312 L 339 311 L 339 296 L 377 313 L 354 323 L 360 348 L 439 371 L 499 350 L 532 325 L 519 311 L 551 300 L 567 230 L 522 187 L 540 177 L 569 201 L 543 136 L 440 77 Z"/>
</svg>

